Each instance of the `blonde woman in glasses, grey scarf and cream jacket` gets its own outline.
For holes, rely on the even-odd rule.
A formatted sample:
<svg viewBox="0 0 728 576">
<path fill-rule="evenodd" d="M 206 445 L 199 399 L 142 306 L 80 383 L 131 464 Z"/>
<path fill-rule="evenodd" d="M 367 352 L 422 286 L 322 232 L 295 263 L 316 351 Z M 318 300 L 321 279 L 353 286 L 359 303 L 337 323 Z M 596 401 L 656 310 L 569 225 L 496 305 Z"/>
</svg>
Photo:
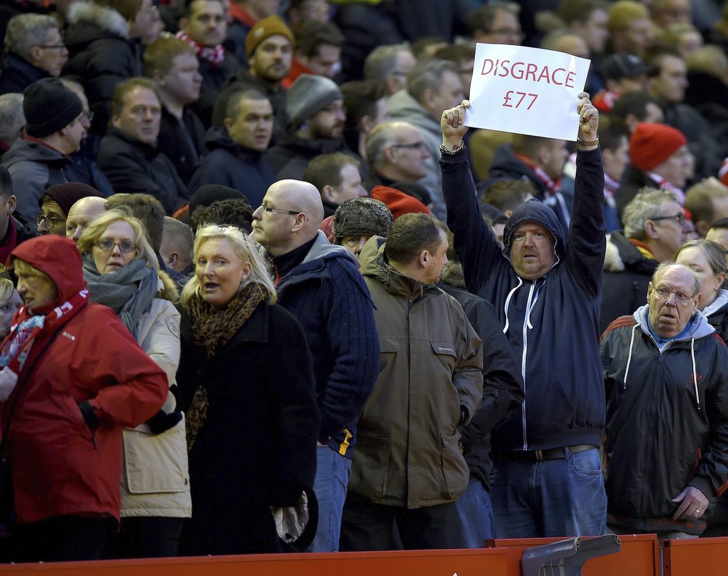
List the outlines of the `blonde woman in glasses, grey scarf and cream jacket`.
<svg viewBox="0 0 728 576">
<path fill-rule="evenodd" d="M 180 355 L 173 304 L 178 292 L 159 270 L 141 221 L 108 210 L 87 226 L 78 246 L 90 299 L 119 315 L 173 386 Z M 124 428 L 122 526 L 107 556 L 176 556 L 183 519 L 191 514 L 184 430 L 172 392 L 154 417 Z"/>
</svg>

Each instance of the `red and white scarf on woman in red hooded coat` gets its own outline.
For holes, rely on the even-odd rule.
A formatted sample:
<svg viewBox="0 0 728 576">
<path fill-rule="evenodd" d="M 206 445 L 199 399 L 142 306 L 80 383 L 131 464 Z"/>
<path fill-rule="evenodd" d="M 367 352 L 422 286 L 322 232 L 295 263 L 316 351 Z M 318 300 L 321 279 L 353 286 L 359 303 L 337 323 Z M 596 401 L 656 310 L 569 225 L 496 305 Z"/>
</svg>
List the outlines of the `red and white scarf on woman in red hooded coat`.
<svg viewBox="0 0 728 576">
<path fill-rule="evenodd" d="M 25 306 L 20 307 L 0 350 L 0 366 L 4 366 L 0 370 L 0 402 L 6 401 L 15 390 L 17 376 L 25 367 L 36 337 L 55 334 L 88 303 L 88 298 L 88 288 L 83 288 L 47 315 L 31 315 Z"/>
</svg>

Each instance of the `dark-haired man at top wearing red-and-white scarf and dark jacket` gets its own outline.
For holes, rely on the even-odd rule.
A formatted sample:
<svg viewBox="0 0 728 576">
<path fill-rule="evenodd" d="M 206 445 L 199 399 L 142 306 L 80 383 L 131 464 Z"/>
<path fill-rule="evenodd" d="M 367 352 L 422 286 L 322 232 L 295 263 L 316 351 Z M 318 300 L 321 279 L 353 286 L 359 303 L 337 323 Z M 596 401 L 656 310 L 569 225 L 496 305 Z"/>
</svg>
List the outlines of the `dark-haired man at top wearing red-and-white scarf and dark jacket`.
<svg viewBox="0 0 728 576">
<path fill-rule="evenodd" d="M 228 31 L 226 16 L 224 0 L 185 0 L 183 15 L 179 20 L 177 38 L 190 44 L 199 60 L 202 88 L 191 108 L 202 119 L 205 127 L 210 126 L 213 106 L 220 90 L 240 66 L 235 55 L 223 46 Z"/>
</svg>

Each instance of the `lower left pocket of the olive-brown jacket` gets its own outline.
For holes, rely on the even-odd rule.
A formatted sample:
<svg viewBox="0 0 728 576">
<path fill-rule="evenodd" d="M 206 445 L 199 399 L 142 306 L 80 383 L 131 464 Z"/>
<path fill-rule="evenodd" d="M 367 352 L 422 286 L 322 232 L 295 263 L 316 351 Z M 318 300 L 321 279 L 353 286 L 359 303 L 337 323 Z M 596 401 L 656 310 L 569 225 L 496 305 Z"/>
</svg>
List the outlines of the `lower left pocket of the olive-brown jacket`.
<svg viewBox="0 0 728 576">
<path fill-rule="evenodd" d="M 352 478 L 349 486 L 365 497 L 381 497 L 387 493 L 387 470 L 392 442 L 387 434 L 357 431 Z"/>
</svg>

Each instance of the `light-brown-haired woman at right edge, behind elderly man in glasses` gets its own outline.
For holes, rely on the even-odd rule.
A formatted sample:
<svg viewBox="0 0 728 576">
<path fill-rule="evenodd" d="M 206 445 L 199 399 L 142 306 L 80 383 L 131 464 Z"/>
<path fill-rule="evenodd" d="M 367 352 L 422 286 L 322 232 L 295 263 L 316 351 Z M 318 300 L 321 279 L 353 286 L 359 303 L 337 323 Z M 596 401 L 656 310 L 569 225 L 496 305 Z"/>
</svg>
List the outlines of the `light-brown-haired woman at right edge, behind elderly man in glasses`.
<svg viewBox="0 0 728 576">
<path fill-rule="evenodd" d="M 692 269 L 700 279 L 697 309 L 708 318 L 718 335 L 728 339 L 728 290 L 724 290 L 726 261 L 723 248 L 711 240 L 690 240 L 675 253 L 675 261 Z"/>
</svg>

